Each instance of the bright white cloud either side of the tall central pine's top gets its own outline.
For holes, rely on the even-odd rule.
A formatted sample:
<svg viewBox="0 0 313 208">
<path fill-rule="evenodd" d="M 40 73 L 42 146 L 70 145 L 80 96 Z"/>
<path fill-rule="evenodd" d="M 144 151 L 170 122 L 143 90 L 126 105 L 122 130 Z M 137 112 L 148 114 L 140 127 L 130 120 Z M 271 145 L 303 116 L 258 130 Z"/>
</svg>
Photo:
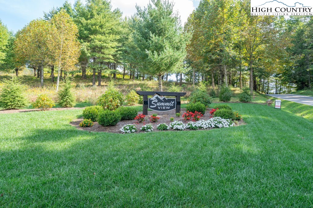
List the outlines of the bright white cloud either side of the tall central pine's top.
<svg viewBox="0 0 313 208">
<path fill-rule="evenodd" d="M 187 18 L 195 9 L 192 0 L 173 0 L 174 11 L 178 11 L 182 25 L 187 22 Z M 146 7 L 149 0 L 111 0 L 113 9 L 120 8 L 124 16 L 131 16 L 136 13 L 136 4 Z"/>
</svg>

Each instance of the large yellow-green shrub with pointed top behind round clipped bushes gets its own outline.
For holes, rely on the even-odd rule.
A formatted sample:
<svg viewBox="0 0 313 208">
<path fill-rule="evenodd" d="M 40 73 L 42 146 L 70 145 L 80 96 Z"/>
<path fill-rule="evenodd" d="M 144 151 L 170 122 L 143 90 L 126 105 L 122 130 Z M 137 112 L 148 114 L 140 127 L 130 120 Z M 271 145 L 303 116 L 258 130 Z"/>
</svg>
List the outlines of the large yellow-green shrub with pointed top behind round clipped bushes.
<svg viewBox="0 0 313 208">
<path fill-rule="evenodd" d="M 98 98 L 97 104 L 105 110 L 115 110 L 123 104 L 123 101 L 123 94 L 111 82 L 105 93 Z"/>
</svg>

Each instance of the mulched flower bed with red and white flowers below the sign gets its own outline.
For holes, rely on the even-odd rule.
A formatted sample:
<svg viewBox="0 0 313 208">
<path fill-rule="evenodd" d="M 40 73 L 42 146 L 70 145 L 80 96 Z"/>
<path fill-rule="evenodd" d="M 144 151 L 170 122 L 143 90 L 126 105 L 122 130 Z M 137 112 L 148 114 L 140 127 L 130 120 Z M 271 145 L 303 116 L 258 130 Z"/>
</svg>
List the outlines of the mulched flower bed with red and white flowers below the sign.
<svg viewBox="0 0 313 208">
<path fill-rule="evenodd" d="M 82 130 L 110 133 L 145 133 L 162 131 L 207 130 L 212 128 L 228 128 L 244 124 L 242 120 L 236 121 L 236 119 L 238 119 L 238 117 L 240 116 L 239 114 L 237 114 L 237 112 L 234 115 L 237 115 L 238 117 L 231 120 L 221 119 L 220 117 L 213 118 L 212 115 L 209 113 L 210 111 L 211 109 L 207 109 L 206 114 L 204 114 L 200 118 L 197 118 L 199 119 L 198 121 L 193 120 L 192 117 L 190 117 L 191 119 L 187 120 L 185 120 L 183 116 L 176 117 L 176 113 L 173 110 L 168 112 L 157 112 L 157 116 L 153 115 L 156 114 L 155 111 L 148 111 L 148 115 L 145 116 L 145 119 L 143 118 L 144 116 L 141 115 L 142 112 L 138 112 L 137 115 L 139 116 L 136 116 L 137 119 L 134 118 L 132 120 L 122 120 L 118 122 L 115 126 L 104 127 L 99 125 L 99 123 L 94 122 L 94 125 L 92 127 L 82 128 L 79 126 L 79 123 L 83 119 L 77 119 L 71 124 Z M 181 115 L 186 113 L 186 109 L 182 109 Z M 155 117 L 158 117 L 159 119 L 155 119 Z M 174 120 L 171 121 L 170 118 L 174 118 Z M 138 121 L 141 121 L 141 123 L 139 123 Z M 129 127 L 131 129 L 127 129 L 126 127 Z"/>
</svg>

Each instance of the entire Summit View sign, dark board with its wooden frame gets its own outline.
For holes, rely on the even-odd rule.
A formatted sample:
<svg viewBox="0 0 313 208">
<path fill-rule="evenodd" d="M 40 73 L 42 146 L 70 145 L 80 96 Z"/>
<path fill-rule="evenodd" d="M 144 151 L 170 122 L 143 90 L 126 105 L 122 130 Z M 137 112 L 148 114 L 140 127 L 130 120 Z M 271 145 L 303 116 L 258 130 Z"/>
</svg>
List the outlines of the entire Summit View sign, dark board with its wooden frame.
<svg viewBox="0 0 313 208">
<path fill-rule="evenodd" d="M 170 111 L 176 109 L 176 113 L 180 113 L 180 97 L 184 96 L 185 92 L 155 92 L 155 91 L 137 91 L 143 96 L 143 114 L 148 115 L 148 108 L 155 111 Z M 148 95 L 155 95 L 148 99 Z M 165 98 L 160 96 L 175 96 L 174 98 Z"/>
</svg>

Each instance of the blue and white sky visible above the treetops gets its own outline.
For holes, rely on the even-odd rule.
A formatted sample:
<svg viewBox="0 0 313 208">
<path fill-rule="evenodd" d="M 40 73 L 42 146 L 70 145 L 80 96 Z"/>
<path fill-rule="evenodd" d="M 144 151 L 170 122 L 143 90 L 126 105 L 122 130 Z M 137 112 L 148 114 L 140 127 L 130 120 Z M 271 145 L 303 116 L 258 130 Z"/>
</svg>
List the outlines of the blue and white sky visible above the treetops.
<svg viewBox="0 0 313 208">
<path fill-rule="evenodd" d="M 17 32 L 31 20 L 41 18 L 52 7 L 60 7 L 65 0 L 0 0 L 0 20 L 10 31 Z M 188 16 L 198 7 L 200 0 L 172 0 L 174 10 L 181 16 L 182 24 Z M 69 0 L 74 3 L 75 0 Z M 84 2 L 84 0 L 82 0 Z M 149 0 L 111 0 L 113 9 L 120 8 L 124 16 L 131 16 L 136 12 L 136 4 L 145 7 Z"/>
</svg>

